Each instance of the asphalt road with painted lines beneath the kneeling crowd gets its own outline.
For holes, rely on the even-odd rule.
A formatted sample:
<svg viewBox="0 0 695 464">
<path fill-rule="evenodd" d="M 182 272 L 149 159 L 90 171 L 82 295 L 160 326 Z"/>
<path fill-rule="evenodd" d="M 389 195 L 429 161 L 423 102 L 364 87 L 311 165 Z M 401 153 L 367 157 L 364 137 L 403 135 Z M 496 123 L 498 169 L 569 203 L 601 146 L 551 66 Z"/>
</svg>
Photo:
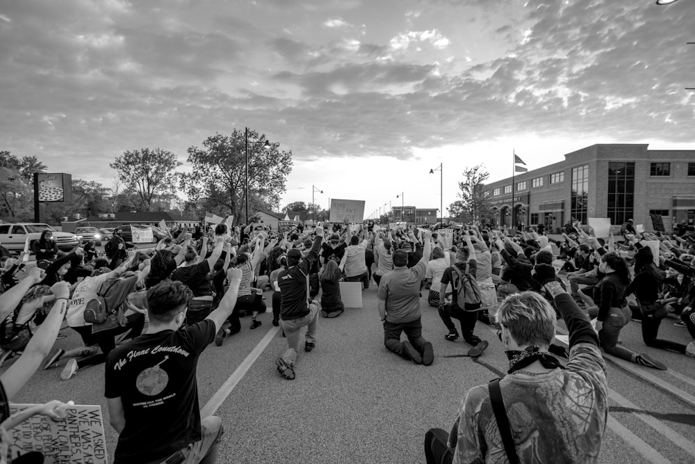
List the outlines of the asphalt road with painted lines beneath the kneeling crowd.
<svg viewBox="0 0 695 464">
<path fill-rule="evenodd" d="M 434 364 L 398 358 L 384 348 L 375 294 L 372 285 L 363 291 L 362 308 L 320 319 L 316 349 L 300 353 L 294 381 L 275 369 L 285 340 L 270 313 L 261 314 L 260 328 L 250 330 L 247 317 L 241 333 L 206 349 L 199 360 L 199 398 L 203 406 L 217 393 L 203 407 L 224 422 L 218 462 L 422 463 L 425 431 L 449 429 L 466 390 L 506 371 L 502 344 L 491 328 L 477 326 L 477 335 L 490 342 L 480 360 L 460 357 L 469 346 L 444 339 L 446 330 L 425 296 L 423 333 L 434 344 Z M 687 330 L 673 321 L 664 320 L 660 335 L 689 342 Z M 56 348 L 81 345 L 73 330 L 63 333 L 67 337 Z M 634 365 L 626 371 L 609 362 L 612 411 L 600 462 L 695 462 L 695 360 L 644 346 L 639 323 L 628 324 L 621 338 L 665 362 L 669 371 Z M 60 367 L 39 371 L 15 401 L 99 404 L 106 417 L 104 367 L 85 368 L 70 381 L 60 380 Z M 233 388 L 220 392 L 225 383 Z M 113 454 L 117 436 L 108 423 L 105 429 Z"/>
</svg>

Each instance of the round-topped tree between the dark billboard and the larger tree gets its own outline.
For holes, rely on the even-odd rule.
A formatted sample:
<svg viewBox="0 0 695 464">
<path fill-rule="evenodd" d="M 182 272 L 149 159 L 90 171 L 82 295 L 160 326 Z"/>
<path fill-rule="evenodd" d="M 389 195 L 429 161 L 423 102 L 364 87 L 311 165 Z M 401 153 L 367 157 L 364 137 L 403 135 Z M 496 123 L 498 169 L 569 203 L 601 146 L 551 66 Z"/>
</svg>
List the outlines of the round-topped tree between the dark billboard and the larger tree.
<svg viewBox="0 0 695 464">
<path fill-rule="evenodd" d="M 109 166 L 118 173 L 118 178 L 125 186 L 135 190 L 142 205 L 147 209 L 152 206 L 152 198 L 172 190 L 174 170 L 181 166 L 172 152 L 155 148 L 142 148 L 124 152 Z"/>
</svg>

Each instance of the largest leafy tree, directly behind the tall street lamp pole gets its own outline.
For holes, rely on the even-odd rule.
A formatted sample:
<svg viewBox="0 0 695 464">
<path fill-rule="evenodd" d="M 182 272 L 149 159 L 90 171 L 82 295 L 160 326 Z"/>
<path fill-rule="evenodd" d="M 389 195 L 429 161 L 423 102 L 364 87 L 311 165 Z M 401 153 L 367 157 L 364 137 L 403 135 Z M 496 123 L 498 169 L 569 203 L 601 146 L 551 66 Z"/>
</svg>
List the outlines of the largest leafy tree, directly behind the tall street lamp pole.
<svg viewBox="0 0 695 464">
<path fill-rule="evenodd" d="M 292 152 L 279 150 L 279 143 L 266 143 L 264 135 L 249 130 L 249 209 L 254 198 L 256 207 L 277 207 L 292 171 Z M 181 190 L 191 201 L 207 200 L 226 207 L 228 214 L 241 221 L 246 216 L 245 161 L 244 131 L 209 136 L 202 149 L 188 148 L 192 172 L 179 175 Z"/>
</svg>

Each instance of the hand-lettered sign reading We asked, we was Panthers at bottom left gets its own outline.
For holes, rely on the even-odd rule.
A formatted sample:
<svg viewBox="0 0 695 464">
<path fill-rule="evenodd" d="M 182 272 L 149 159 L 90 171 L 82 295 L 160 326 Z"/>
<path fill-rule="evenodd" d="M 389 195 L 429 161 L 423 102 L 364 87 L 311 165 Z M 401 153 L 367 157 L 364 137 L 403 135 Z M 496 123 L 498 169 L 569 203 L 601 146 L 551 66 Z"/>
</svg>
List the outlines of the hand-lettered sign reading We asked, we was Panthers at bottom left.
<svg viewBox="0 0 695 464">
<path fill-rule="evenodd" d="M 10 413 L 37 406 L 10 404 Z M 107 464 L 101 406 L 70 406 L 59 422 L 35 415 L 9 431 L 13 456 L 40 451 L 45 464 Z"/>
</svg>

